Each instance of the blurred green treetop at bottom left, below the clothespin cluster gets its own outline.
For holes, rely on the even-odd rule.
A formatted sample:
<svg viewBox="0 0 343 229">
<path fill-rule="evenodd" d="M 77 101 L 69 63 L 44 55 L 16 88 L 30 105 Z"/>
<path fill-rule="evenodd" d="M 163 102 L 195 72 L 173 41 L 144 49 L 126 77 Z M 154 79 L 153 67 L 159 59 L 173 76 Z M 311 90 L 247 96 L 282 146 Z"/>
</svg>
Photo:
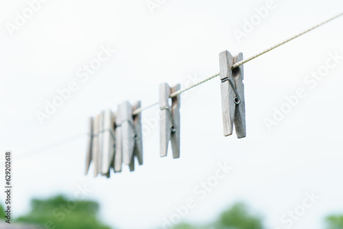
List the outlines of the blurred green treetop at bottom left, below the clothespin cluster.
<svg viewBox="0 0 343 229">
<path fill-rule="evenodd" d="M 31 211 L 16 221 L 41 224 L 50 229 L 110 229 L 98 219 L 99 204 L 89 200 L 68 200 L 62 195 L 34 199 Z"/>
</svg>

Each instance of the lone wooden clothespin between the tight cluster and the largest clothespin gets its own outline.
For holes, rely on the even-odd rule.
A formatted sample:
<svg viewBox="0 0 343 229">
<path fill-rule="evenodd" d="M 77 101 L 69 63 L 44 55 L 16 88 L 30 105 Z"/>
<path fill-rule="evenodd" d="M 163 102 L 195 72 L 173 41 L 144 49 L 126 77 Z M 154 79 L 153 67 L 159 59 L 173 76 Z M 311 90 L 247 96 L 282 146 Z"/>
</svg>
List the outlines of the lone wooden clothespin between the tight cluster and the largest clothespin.
<svg viewBox="0 0 343 229">
<path fill-rule="evenodd" d="M 168 84 L 160 84 L 160 156 L 167 156 L 169 140 L 173 158 L 180 157 L 180 95 L 171 99 L 171 93 L 180 90 L 180 84 L 170 88 Z"/>
</svg>

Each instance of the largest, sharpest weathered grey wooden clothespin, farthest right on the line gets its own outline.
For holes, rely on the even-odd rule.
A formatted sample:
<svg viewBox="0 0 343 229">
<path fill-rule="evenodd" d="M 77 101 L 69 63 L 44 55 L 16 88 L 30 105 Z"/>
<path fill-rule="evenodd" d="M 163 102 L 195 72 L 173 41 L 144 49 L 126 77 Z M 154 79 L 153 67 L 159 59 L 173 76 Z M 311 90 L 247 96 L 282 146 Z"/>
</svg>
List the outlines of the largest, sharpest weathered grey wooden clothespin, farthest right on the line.
<svg viewBox="0 0 343 229">
<path fill-rule="evenodd" d="M 228 51 L 222 51 L 219 56 L 224 136 L 233 134 L 233 123 L 235 123 L 237 138 L 244 138 L 246 136 L 246 108 L 243 64 L 232 69 L 233 64 L 243 60 L 243 53 L 233 57 Z"/>
</svg>

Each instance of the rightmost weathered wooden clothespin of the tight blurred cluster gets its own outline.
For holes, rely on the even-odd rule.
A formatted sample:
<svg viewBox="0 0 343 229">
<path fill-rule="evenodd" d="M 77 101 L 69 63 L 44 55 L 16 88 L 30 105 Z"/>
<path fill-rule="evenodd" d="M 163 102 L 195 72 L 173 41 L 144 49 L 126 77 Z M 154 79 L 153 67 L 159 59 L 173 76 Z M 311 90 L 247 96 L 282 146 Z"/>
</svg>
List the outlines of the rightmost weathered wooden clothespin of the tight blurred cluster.
<svg viewBox="0 0 343 229">
<path fill-rule="evenodd" d="M 124 101 L 118 106 L 116 118 L 116 152 L 115 171 L 121 171 L 121 164 L 129 165 L 130 171 L 134 171 L 134 156 L 137 157 L 139 165 L 143 164 L 143 142 L 141 114 L 133 115 L 133 110 L 140 108 L 141 102 L 131 106 Z"/>
</svg>

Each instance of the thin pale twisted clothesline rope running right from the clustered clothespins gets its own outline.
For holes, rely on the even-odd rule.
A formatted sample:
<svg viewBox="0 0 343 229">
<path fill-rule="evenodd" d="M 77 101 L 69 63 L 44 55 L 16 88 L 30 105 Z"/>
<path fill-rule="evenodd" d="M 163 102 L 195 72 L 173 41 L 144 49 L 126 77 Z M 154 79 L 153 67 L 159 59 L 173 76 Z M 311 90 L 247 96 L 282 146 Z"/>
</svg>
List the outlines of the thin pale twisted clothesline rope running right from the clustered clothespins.
<svg viewBox="0 0 343 229">
<path fill-rule="evenodd" d="M 343 12 L 340 13 L 340 14 L 338 14 L 338 15 L 336 15 L 336 16 L 333 16 L 331 19 L 327 19 L 327 21 L 324 21 L 324 22 L 322 22 L 322 23 L 319 23 L 318 25 L 315 25 L 314 27 L 311 27 L 310 29 L 305 30 L 304 32 L 301 32 L 300 34 L 297 34 L 297 35 L 295 35 L 295 36 L 292 36 L 291 38 L 288 38 L 287 40 L 284 40 L 283 42 L 281 42 L 281 43 L 279 43 L 279 44 L 277 44 L 277 45 L 274 45 L 274 46 L 270 47 L 269 49 L 265 49 L 264 51 L 261 51 L 261 52 L 255 54 L 254 56 L 251 56 L 250 58 L 241 60 L 241 61 L 239 61 L 239 62 L 233 64 L 232 69 L 235 69 L 235 68 L 241 66 L 241 64 L 245 64 L 246 62 L 249 62 L 250 60 L 253 60 L 253 59 L 257 58 L 257 57 L 263 55 L 264 53 L 268 53 L 268 51 L 272 51 L 272 49 L 276 49 L 277 47 L 280 47 L 281 45 L 284 45 L 285 43 L 287 43 L 287 42 L 289 42 L 289 41 L 291 41 L 291 40 L 294 40 L 295 38 L 298 38 L 299 36 L 301 36 L 301 35 L 303 35 L 303 34 L 306 34 L 307 32 L 310 32 L 311 30 L 314 30 L 314 29 L 320 27 L 320 25 L 324 25 L 324 24 L 328 23 L 329 21 L 333 21 L 333 19 L 337 19 L 339 16 L 342 16 L 342 15 L 343 15 Z M 176 91 L 176 92 L 174 92 L 174 93 L 171 93 L 170 97 L 171 97 L 171 98 L 172 98 L 172 97 L 176 97 L 176 96 L 180 95 L 181 93 L 183 93 L 183 92 L 185 92 L 185 91 L 188 91 L 189 89 L 191 89 L 191 88 L 193 88 L 193 87 L 196 87 L 196 86 L 198 86 L 198 85 L 200 85 L 200 84 L 203 84 L 204 82 L 207 82 L 207 81 L 209 81 L 209 80 L 212 80 L 213 78 L 217 77 L 218 75 L 220 75 L 220 73 L 217 73 L 217 74 L 215 74 L 215 75 L 212 75 L 211 77 L 208 77 L 208 78 L 206 78 L 206 79 L 204 79 L 204 80 L 202 80 L 202 81 L 200 81 L 200 82 L 198 82 L 198 83 L 196 83 L 196 84 L 193 84 L 192 86 L 189 86 L 189 87 L 187 87 L 187 88 L 183 88 L 183 89 L 180 89 L 179 91 Z M 134 110 L 134 111 L 133 111 L 133 115 L 137 115 L 137 114 L 139 114 L 140 112 L 142 112 L 143 110 L 146 110 L 146 109 L 151 108 L 152 106 L 156 106 L 156 105 L 158 105 L 158 102 L 156 102 L 156 103 L 154 103 L 154 104 L 151 104 L 150 106 L 146 106 L 146 107 L 144 107 L 144 108 L 139 108 L 139 109 L 137 109 L 137 110 Z"/>
</svg>

